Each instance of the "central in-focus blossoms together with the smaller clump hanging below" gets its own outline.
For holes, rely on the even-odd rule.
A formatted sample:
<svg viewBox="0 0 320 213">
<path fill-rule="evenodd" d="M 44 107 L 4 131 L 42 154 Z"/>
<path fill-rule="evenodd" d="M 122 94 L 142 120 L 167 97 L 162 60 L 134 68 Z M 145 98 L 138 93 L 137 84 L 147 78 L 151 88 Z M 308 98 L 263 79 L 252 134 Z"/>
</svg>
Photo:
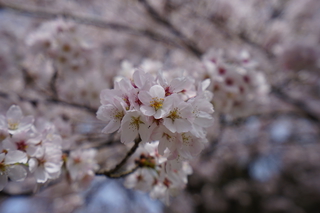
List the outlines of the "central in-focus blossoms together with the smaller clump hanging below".
<svg viewBox="0 0 320 213">
<path fill-rule="evenodd" d="M 167 82 L 161 73 L 153 76 L 136 70 L 132 79 L 122 78 L 114 89 L 100 94 L 97 117 L 107 122 L 104 133 L 118 131 L 125 144 L 139 137 L 146 147 L 151 146 L 147 142 L 155 146 L 140 156 L 136 163 L 143 169 L 134 173 L 136 180 L 141 179 L 140 173 L 149 176 L 138 182 L 142 188 L 148 186 L 153 197 L 163 197 L 164 189 L 183 188 L 180 183 L 184 186 L 189 174 L 183 169 L 186 161 L 194 159 L 207 142 L 206 128 L 213 124 L 212 94 L 206 90 L 210 81 L 199 83 L 197 89 L 193 84 L 189 77 Z M 138 182 L 127 185 L 140 188 Z"/>
</svg>

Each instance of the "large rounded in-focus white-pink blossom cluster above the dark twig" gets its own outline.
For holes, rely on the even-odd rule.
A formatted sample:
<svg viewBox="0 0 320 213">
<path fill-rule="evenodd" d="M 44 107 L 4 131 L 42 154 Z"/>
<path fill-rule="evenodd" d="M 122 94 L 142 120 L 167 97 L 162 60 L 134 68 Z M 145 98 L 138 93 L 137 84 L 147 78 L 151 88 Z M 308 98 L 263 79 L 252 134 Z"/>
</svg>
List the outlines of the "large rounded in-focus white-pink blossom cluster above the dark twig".
<svg viewBox="0 0 320 213">
<path fill-rule="evenodd" d="M 161 74 L 154 77 L 136 70 L 131 80 L 115 82 L 114 89 L 103 90 L 97 112 L 107 122 L 104 133 L 119 131 L 121 142 L 136 137 L 142 142 L 159 141 L 159 154 L 170 151 L 170 159 L 188 160 L 200 153 L 206 131 L 213 123 L 209 81 L 198 85 L 189 77 L 167 82 Z"/>
</svg>

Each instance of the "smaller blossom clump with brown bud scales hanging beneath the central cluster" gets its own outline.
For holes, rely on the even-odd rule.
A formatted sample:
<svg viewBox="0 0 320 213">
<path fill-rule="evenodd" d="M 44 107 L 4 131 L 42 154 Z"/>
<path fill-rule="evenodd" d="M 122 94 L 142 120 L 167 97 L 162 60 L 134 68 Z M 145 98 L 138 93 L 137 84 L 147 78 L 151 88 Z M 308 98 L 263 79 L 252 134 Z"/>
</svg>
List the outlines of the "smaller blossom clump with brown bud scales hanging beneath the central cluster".
<svg viewBox="0 0 320 213">
<path fill-rule="evenodd" d="M 135 163 L 139 168 L 130 174 L 124 185 L 130 189 L 148 192 L 150 197 L 169 204 L 170 196 L 177 195 L 187 184 L 187 176 L 192 173 L 188 162 L 179 167 L 158 153 L 159 142 L 146 143 L 136 152 Z"/>
</svg>

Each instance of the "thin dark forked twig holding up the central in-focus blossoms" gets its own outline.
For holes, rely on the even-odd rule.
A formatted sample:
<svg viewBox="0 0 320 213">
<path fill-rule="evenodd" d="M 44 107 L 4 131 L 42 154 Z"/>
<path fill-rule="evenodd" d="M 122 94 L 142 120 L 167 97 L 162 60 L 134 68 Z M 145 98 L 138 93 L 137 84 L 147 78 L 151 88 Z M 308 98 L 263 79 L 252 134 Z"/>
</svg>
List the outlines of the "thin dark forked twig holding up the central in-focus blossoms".
<svg viewBox="0 0 320 213">
<path fill-rule="evenodd" d="M 139 144 L 141 142 L 140 137 L 138 137 L 135 141 L 134 141 L 134 145 L 131 147 L 131 149 L 127 152 L 126 156 L 113 168 L 107 171 L 99 171 L 96 173 L 96 175 L 105 175 L 107 177 L 110 178 L 118 178 L 118 177 L 122 177 L 121 173 L 119 174 L 115 174 L 122 166 L 125 165 L 125 163 L 127 162 L 127 160 L 131 157 L 131 155 L 133 155 L 133 153 L 135 153 L 135 151 L 138 149 Z M 134 169 L 135 170 L 135 169 Z M 125 172 L 124 176 L 127 174 L 132 173 L 134 170 L 130 170 L 129 172 Z"/>
</svg>

